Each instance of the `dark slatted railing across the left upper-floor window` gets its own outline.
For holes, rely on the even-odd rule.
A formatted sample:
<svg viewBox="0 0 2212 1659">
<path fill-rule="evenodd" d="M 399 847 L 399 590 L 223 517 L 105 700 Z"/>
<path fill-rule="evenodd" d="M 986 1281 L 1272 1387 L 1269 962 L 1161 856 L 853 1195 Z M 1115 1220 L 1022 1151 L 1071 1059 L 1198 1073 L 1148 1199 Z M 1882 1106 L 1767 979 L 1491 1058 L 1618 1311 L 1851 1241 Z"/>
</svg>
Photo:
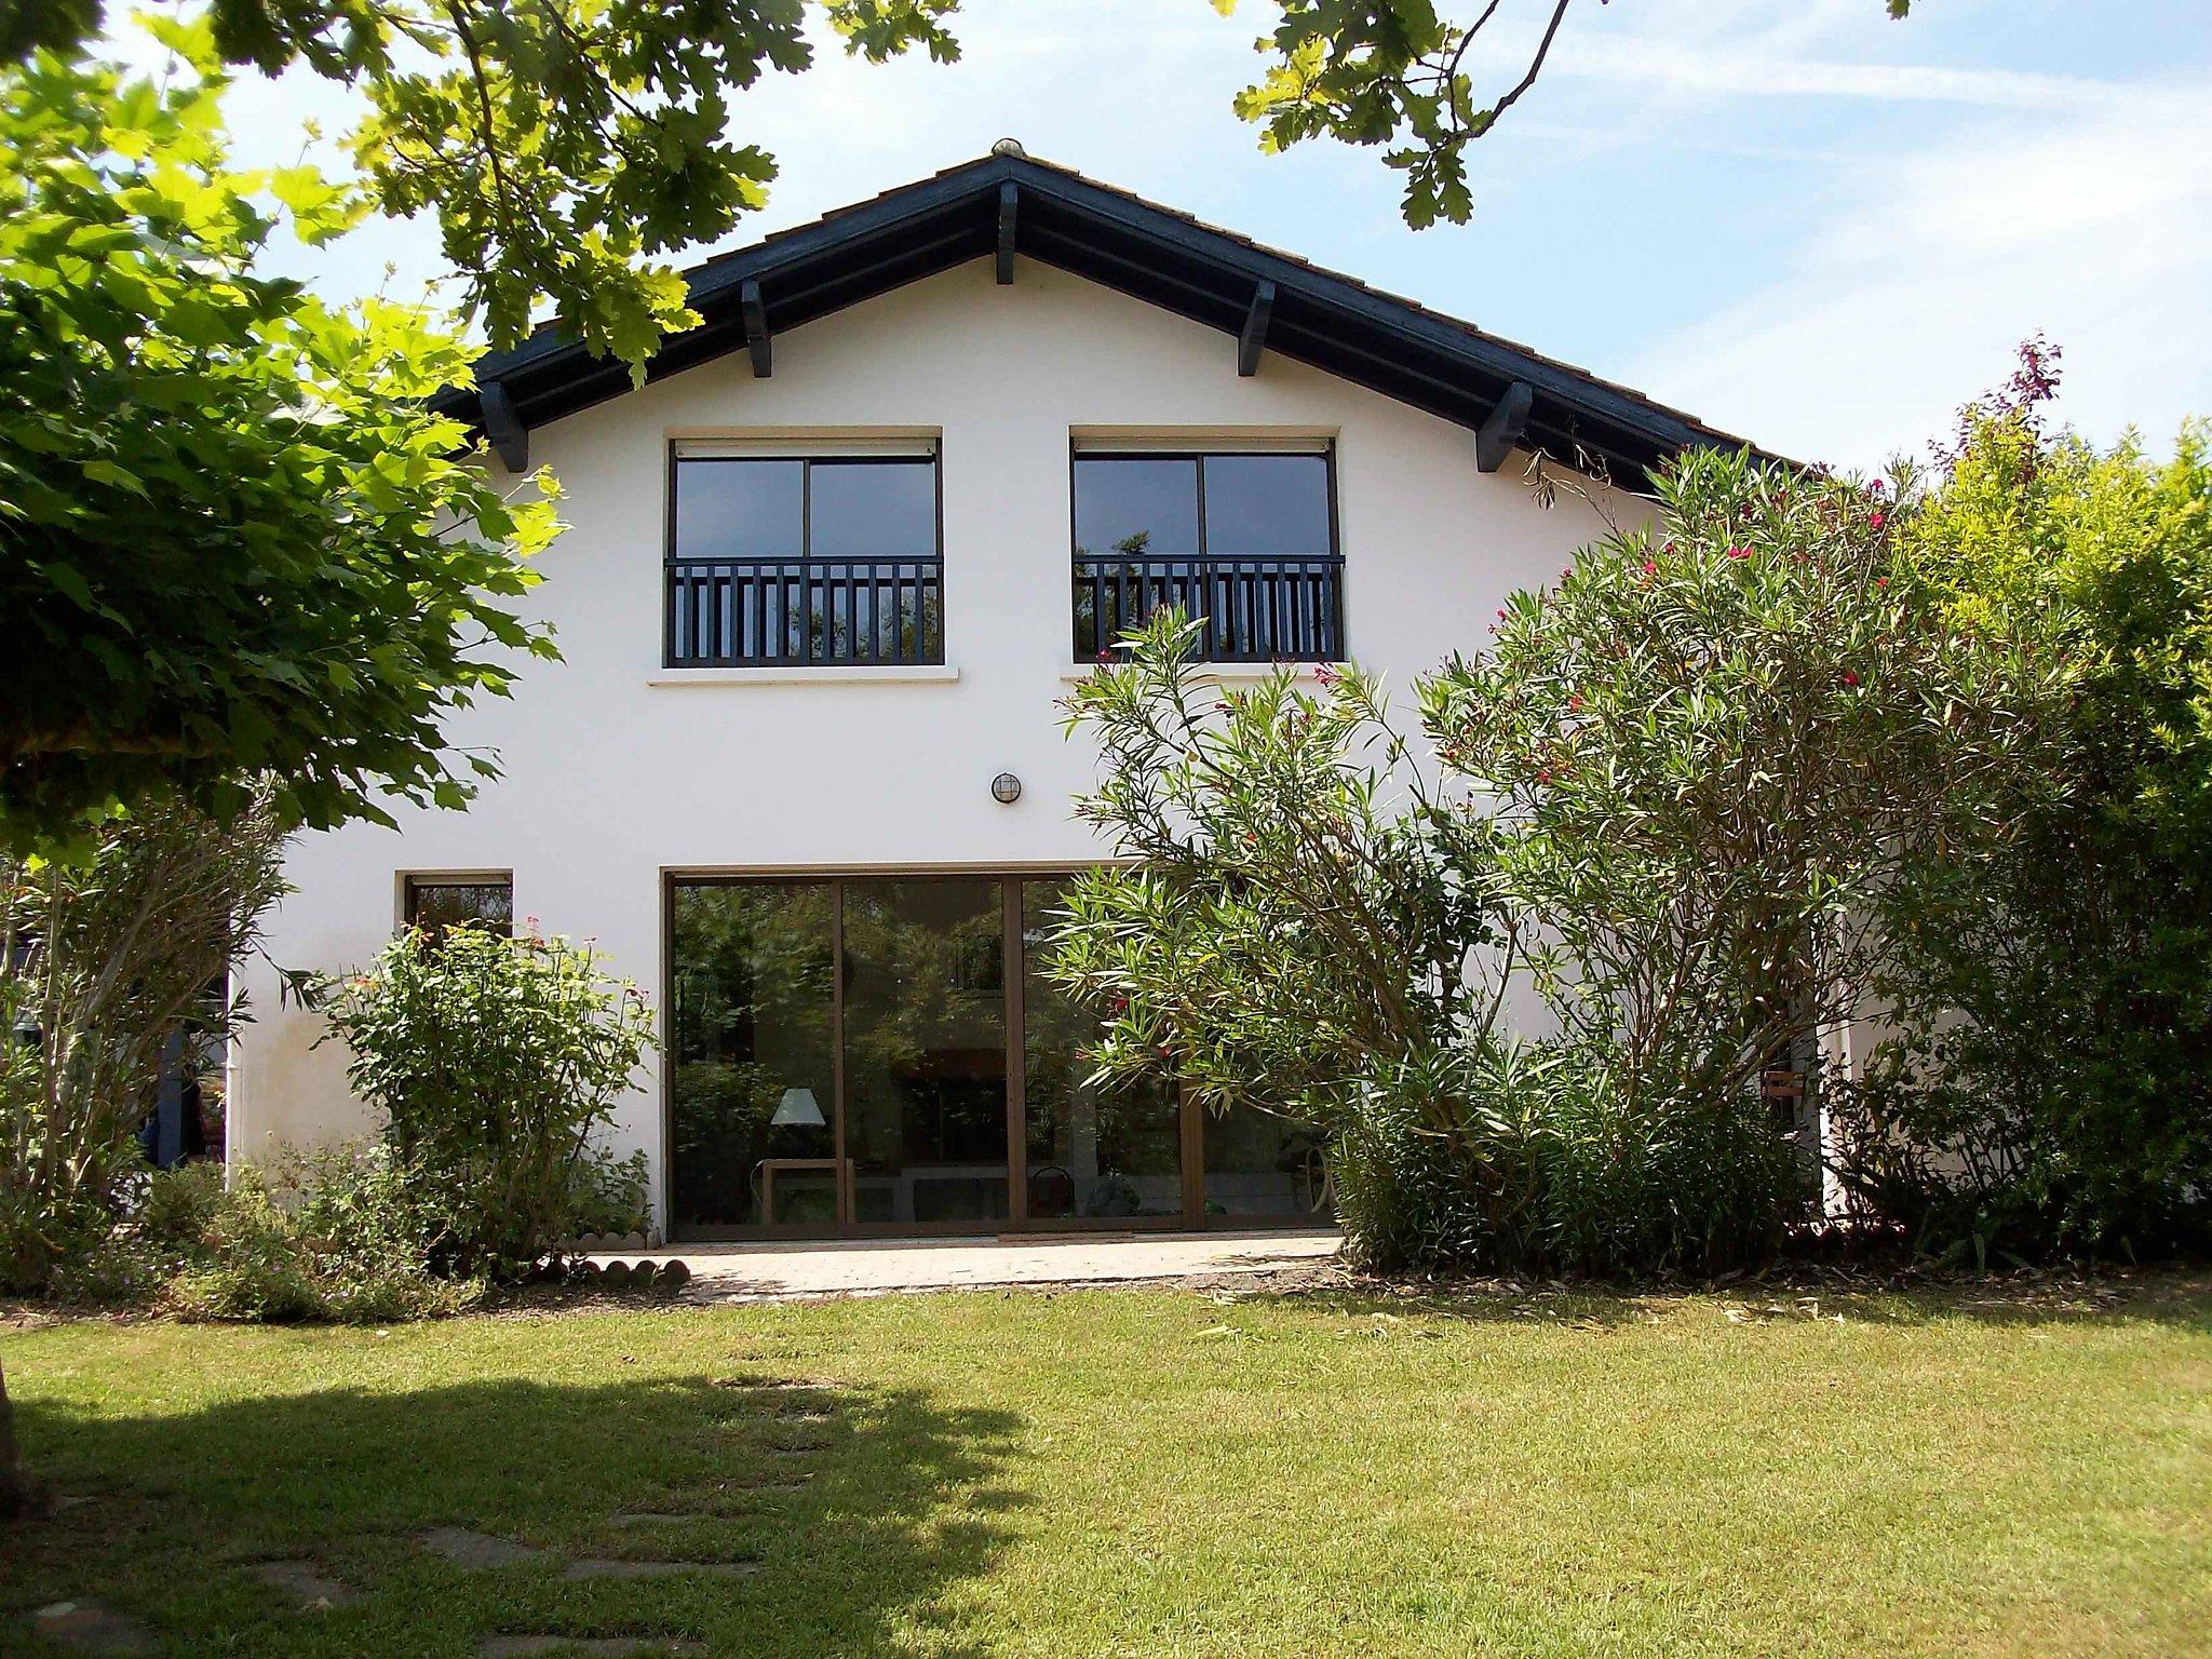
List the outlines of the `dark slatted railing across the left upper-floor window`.
<svg viewBox="0 0 2212 1659">
<path fill-rule="evenodd" d="M 672 560 L 670 668 L 945 661 L 945 560 Z"/>
</svg>

